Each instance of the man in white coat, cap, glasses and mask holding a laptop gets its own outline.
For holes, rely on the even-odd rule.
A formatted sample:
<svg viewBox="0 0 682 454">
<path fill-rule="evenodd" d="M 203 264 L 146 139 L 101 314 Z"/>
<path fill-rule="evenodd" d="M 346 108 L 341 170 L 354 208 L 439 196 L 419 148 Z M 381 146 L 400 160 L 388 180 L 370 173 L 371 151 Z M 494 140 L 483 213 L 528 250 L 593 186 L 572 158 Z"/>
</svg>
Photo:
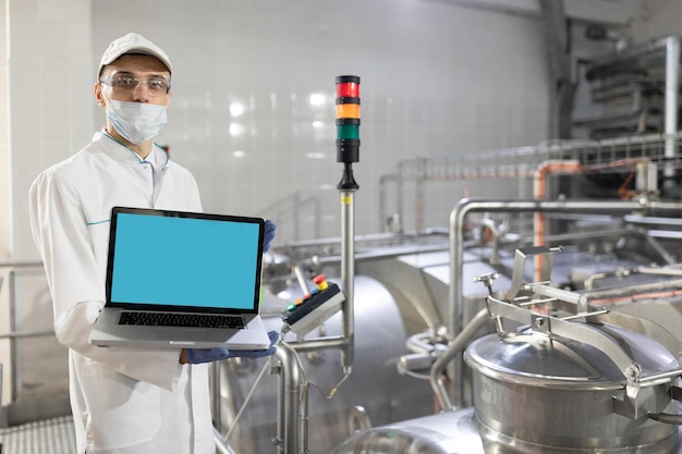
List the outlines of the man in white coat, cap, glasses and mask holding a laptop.
<svg viewBox="0 0 682 454">
<path fill-rule="evenodd" d="M 42 172 L 29 192 L 34 240 L 53 299 L 54 332 L 69 347 L 78 454 L 214 454 L 208 361 L 227 349 L 97 347 L 88 335 L 105 302 L 113 206 L 200 211 L 193 175 L 153 138 L 166 124 L 172 65 L 155 44 L 127 34 L 109 46 L 94 94 L 106 127 Z M 139 232 L 155 247 L 154 232 Z M 266 223 L 265 250 L 275 237 Z M 145 270 L 138 270 L 145 279 Z M 265 356 L 267 351 L 235 355 Z"/>
</svg>

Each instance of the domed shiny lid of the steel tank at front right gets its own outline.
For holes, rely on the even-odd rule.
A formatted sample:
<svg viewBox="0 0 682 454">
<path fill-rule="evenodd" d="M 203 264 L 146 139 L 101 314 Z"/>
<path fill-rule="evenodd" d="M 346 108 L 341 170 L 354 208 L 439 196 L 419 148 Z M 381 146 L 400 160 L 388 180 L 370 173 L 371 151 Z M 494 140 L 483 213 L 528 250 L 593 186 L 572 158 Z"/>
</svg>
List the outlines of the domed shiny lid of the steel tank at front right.
<svg viewBox="0 0 682 454">
<path fill-rule="evenodd" d="M 638 332 L 611 326 L 602 331 L 642 367 L 642 377 L 674 370 L 674 356 L 657 341 Z M 500 381 L 550 388 L 623 388 L 626 378 L 597 347 L 565 338 L 533 332 L 489 334 L 466 348 L 464 360 L 474 370 Z"/>
</svg>

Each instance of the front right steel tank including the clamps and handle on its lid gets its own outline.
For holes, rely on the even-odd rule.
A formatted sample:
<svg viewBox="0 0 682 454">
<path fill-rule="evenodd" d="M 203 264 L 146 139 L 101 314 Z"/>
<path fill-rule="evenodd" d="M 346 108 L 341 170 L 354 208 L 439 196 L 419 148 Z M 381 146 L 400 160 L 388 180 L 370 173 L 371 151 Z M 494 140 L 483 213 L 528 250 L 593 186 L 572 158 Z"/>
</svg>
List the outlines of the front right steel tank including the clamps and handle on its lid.
<svg viewBox="0 0 682 454">
<path fill-rule="evenodd" d="M 516 254 L 520 292 L 486 299 L 498 333 L 464 353 L 482 434 L 565 452 L 677 449 L 682 342 L 549 281 L 519 285 L 526 258 L 549 250 Z M 503 319 L 524 328 L 506 330 Z"/>
</svg>

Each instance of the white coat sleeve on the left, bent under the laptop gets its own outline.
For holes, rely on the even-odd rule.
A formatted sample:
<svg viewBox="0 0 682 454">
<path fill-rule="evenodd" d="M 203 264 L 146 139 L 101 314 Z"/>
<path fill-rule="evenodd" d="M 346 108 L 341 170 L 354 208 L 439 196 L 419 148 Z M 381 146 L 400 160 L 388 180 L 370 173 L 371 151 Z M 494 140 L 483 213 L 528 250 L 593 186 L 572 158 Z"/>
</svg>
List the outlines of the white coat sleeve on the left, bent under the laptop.
<svg viewBox="0 0 682 454">
<path fill-rule="evenodd" d="M 180 351 L 88 343 L 103 307 L 106 270 L 95 256 L 78 192 L 68 180 L 48 170 L 29 189 L 32 232 L 52 295 L 57 340 L 117 372 L 172 390 L 182 367 Z"/>
</svg>

